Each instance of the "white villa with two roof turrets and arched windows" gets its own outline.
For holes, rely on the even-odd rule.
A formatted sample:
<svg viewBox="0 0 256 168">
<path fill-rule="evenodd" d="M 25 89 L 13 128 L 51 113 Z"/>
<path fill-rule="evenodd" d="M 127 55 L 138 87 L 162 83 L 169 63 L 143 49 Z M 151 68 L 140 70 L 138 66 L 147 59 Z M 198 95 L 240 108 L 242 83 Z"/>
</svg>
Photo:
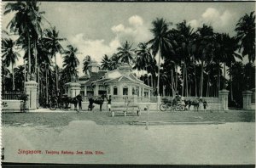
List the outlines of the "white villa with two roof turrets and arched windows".
<svg viewBox="0 0 256 168">
<path fill-rule="evenodd" d="M 100 70 L 95 61 L 88 67 L 86 75 L 79 77 L 78 81 L 84 100 L 87 100 L 88 96 L 98 97 L 102 94 L 111 95 L 114 102 L 122 102 L 124 98 L 137 98 L 138 101 L 150 99 L 152 87 L 137 79 L 129 64 L 122 64 L 118 69 L 111 71 Z"/>
</svg>

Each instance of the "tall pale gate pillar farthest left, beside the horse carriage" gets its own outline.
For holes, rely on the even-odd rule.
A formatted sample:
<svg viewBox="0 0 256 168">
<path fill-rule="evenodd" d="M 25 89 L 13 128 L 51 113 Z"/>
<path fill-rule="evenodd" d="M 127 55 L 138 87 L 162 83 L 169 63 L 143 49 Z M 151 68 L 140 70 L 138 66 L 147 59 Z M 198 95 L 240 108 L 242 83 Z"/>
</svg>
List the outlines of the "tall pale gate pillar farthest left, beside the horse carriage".
<svg viewBox="0 0 256 168">
<path fill-rule="evenodd" d="M 36 81 L 26 81 L 25 92 L 28 95 L 28 109 L 37 109 L 37 88 L 38 83 Z"/>
</svg>

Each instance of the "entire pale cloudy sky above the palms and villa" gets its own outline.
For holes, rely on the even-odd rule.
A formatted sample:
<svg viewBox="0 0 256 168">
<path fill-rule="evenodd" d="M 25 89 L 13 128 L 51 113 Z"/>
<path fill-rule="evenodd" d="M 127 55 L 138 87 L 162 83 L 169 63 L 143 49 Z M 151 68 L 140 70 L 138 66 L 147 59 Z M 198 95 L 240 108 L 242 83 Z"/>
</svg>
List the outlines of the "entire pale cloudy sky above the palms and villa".
<svg viewBox="0 0 256 168">
<path fill-rule="evenodd" d="M 41 2 L 40 10 L 45 11 L 44 17 L 60 31 L 60 36 L 67 38 L 67 42 L 61 43 L 62 46 L 65 48 L 72 44 L 79 49 L 78 70 L 81 76 L 86 55 L 100 63 L 104 54 L 111 56 L 116 53 L 116 49 L 126 40 L 134 48 L 138 42 L 148 42 L 153 37 L 150 28 L 156 18 L 171 22 L 171 28 L 186 20 L 195 30 L 205 23 L 212 25 L 216 32 L 235 36 L 237 21 L 244 14 L 254 11 L 255 3 Z M 2 16 L 3 30 L 13 16 Z M 49 28 L 49 24 L 44 21 L 43 27 Z M 19 64 L 23 64 L 22 59 L 19 59 Z M 62 65 L 60 54 L 57 54 L 57 64 Z"/>
</svg>

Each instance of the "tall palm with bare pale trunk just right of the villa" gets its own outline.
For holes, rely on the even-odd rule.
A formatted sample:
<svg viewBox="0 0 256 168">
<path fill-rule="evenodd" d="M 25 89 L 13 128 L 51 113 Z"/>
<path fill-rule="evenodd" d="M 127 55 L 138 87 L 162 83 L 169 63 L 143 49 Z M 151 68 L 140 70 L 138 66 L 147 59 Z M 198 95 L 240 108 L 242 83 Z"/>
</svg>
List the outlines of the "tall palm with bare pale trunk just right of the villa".
<svg viewBox="0 0 256 168">
<path fill-rule="evenodd" d="M 166 52 L 172 48 L 171 40 L 168 38 L 168 26 L 170 23 L 167 23 L 164 19 L 157 18 L 152 22 L 153 28 L 150 30 L 154 38 L 151 39 L 148 44 L 151 44 L 150 49 L 154 57 L 158 54 L 158 79 L 157 79 L 157 95 L 160 96 L 160 58 L 164 58 Z"/>
</svg>

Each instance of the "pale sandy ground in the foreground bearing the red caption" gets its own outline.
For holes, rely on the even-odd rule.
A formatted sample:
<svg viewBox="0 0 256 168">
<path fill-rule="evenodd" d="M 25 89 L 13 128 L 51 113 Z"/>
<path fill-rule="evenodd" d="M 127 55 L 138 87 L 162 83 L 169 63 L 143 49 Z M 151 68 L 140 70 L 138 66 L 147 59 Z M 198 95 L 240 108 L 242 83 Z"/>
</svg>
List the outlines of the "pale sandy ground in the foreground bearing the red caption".
<svg viewBox="0 0 256 168">
<path fill-rule="evenodd" d="M 99 126 L 72 121 L 68 126 L 5 126 L 7 162 L 81 164 L 255 164 L 255 123 L 219 125 Z M 43 154 L 17 154 L 39 149 Z M 45 154 L 61 150 L 93 154 Z M 104 154 L 96 154 L 95 151 Z"/>
</svg>

